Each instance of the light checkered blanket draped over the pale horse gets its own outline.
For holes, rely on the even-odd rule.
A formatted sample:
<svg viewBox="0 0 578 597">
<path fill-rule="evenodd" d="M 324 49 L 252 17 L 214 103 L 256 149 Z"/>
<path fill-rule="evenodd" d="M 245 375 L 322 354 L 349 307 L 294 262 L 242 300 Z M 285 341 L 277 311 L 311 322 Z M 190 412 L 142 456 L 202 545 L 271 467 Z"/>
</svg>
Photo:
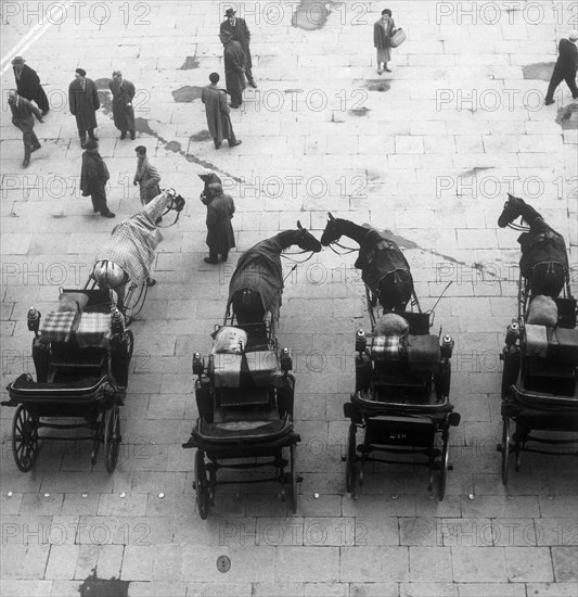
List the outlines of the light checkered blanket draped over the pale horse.
<svg viewBox="0 0 578 597">
<path fill-rule="evenodd" d="M 160 193 L 142 212 L 115 226 L 108 242 L 97 255 L 97 263 L 114 262 L 132 282 L 142 283 L 146 280 L 155 258 L 155 249 L 163 240 L 155 221 L 170 199 L 168 193 Z"/>
</svg>

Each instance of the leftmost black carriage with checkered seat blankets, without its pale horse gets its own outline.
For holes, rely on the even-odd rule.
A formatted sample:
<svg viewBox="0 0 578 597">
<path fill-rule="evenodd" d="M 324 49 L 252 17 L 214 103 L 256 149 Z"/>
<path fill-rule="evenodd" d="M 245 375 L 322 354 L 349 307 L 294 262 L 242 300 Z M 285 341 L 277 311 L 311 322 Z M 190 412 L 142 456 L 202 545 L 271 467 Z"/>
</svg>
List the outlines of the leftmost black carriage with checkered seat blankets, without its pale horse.
<svg viewBox="0 0 578 597">
<path fill-rule="evenodd" d="M 2 402 L 16 407 L 12 449 L 21 471 L 34 467 L 41 442 L 79 440 L 92 441 L 93 466 L 103 444 L 106 470 L 115 469 L 121 441 L 119 407 L 125 401 L 133 336 L 112 306 L 107 291 L 63 290 L 57 309 L 43 319 L 38 310 L 28 312 L 28 329 L 35 334 L 36 381 L 23 373 L 8 385 L 10 399 Z M 90 433 L 40 435 L 41 429 Z"/>
</svg>

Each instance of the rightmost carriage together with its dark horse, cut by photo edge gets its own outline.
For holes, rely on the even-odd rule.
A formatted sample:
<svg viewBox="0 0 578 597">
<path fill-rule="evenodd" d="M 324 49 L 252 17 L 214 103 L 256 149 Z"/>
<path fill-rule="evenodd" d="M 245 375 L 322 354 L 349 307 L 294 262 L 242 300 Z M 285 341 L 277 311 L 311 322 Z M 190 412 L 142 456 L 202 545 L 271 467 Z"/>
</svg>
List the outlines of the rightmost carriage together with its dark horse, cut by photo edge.
<svg viewBox="0 0 578 597">
<path fill-rule="evenodd" d="M 514 224 L 519 216 L 528 227 Z M 505 484 L 511 454 L 516 471 L 522 452 L 578 455 L 578 330 L 564 238 L 536 209 L 512 195 L 498 224 L 524 230 L 518 239 L 518 314 L 508 327 L 500 355 L 502 442 L 498 449 Z M 574 444 L 575 449 L 552 450 L 540 444 Z"/>
</svg>

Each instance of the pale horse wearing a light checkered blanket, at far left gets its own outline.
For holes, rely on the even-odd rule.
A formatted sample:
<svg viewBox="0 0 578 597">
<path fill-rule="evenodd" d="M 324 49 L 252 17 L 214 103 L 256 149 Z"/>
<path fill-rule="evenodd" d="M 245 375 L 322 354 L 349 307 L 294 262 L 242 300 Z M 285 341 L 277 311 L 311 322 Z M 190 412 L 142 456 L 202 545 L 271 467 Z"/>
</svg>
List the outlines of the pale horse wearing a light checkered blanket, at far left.
<svg viewBox="0 0 578 597">
<path fill-rule="evenodd" d="M 170 209 L 181 212 L 184 200 L 174 189 L 166 189 L 129 219 L 115 226 L 106 244 L 97 254 L 92 278 L 101 290 L 113 289 L 117 306 L 124 308 L 126 285 L 156 283 L 150 277 L 155 249 L 163 240 L 156 221 Z"/>
</svg>

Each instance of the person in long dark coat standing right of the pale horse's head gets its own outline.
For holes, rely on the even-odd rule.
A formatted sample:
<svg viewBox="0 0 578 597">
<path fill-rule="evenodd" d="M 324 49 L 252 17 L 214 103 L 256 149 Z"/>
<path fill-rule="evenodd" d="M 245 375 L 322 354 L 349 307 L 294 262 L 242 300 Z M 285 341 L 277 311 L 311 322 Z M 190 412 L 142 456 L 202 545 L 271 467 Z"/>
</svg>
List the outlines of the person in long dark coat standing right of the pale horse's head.
<svg viewBox="0 0 578 597">
<path fill-rule="evenodd" d="M 235 213 L 235 204 L 231 195 L 222 192 L 219 182 L 208 186 L 210 202 L 207 205 L 207 264 L 218 264 L 219 255 L 221 262 L 229 257 L 229 251 L 235 245 L 235 237 L 231 219 Z"/>
</svg>

